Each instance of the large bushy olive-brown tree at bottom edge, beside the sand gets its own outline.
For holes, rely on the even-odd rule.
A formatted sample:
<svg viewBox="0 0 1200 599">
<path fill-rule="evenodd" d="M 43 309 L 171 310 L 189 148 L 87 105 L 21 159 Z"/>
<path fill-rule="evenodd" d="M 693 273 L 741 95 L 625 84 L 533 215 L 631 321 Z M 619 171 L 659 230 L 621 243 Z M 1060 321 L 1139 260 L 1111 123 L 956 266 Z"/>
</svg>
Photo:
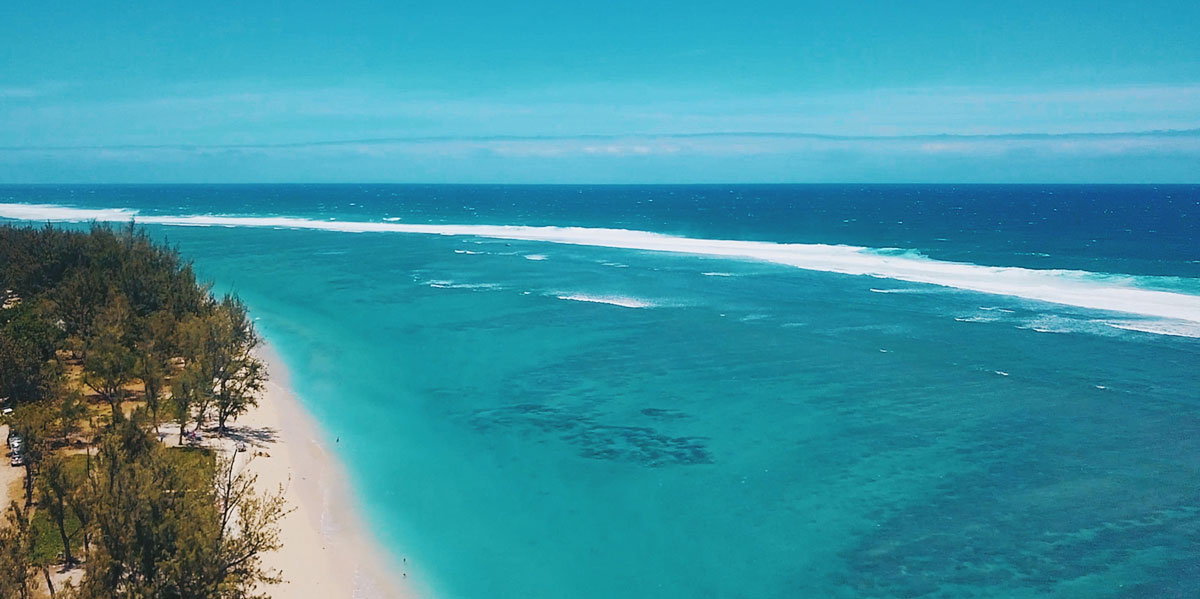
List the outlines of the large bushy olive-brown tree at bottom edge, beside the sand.
<svg viewBox="0 0 1200 599">
<path fill-rule="evenodd" d="M 202 472 L 178 451 L 127 421 L 101 441 L 82 598 L 248 599 L 280 581 L 260 557 L 280 546 L 282 489 L 257 495 L 230 462 Z"/>
</svg>

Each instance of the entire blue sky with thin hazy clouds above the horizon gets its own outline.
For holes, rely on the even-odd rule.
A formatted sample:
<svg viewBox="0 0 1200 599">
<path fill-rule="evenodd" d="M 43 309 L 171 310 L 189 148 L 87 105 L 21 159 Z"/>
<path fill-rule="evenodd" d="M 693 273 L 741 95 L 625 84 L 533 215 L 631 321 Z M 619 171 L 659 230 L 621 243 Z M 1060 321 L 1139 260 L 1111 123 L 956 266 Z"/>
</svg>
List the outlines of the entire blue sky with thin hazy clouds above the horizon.
<svg viewBox="0 0 1200 599">
<path fill-rule="evenodd" d="M 1200 182 L 1200 2 L 0 6 L 0 182 Z"/>
</svg>

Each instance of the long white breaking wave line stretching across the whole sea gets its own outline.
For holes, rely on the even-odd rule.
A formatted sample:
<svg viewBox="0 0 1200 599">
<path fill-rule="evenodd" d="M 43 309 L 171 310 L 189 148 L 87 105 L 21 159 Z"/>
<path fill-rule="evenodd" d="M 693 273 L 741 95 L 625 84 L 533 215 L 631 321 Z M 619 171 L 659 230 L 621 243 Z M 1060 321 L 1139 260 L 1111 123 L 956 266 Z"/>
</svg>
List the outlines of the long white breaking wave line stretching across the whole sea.
<svg viewBox="0 0 1200 599">
<path fill-rule="evenodd" d="M 0 217 L 24 221 L 110 221 L 185 227 L 268 227 L 344 233 L 414 233 L 671 252 L 762 260 L 806 270 L 868 275 L 1010 295 L 1092 310 L 1200 322 L 1200 295 L 1140 288 L 1139 278 L 1081 270 L 983 266 L 930 259 L 916 252 L 826 244 L 778 244 L 695 239 L 644 230 L 496 224 L 413 224 L 403 222 L 317 221 L 284 216 L 139 216 L 124 209 L 79 209 L 52 204 L 0 203 Z"/>
</svg>

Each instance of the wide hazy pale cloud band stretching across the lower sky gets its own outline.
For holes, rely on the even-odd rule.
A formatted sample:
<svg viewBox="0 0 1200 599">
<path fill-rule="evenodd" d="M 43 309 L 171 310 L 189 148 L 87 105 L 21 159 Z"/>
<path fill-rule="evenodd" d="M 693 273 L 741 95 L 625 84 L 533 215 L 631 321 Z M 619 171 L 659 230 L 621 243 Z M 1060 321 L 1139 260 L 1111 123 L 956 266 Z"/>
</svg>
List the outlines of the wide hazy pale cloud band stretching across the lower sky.
<svg viewBox="0 0 1200 599">
<path fill-rule="evenodd" d="M 592 95 L 587 90 L 574 95 L 539 90 L 474 98 L 370 86 L 188 91 L 192 94 L 150 98 L 22 101 L 0 112 L 0 145 L 228 145 L 416 136 L 739 131 L 979 136 L 1200 128 L 1200 84 L 745 96 L 642 89 L 622 92 L 614 88 Z M 12 88 L 7 92 L 17 97 L 35 90 Z"/>
</svg>

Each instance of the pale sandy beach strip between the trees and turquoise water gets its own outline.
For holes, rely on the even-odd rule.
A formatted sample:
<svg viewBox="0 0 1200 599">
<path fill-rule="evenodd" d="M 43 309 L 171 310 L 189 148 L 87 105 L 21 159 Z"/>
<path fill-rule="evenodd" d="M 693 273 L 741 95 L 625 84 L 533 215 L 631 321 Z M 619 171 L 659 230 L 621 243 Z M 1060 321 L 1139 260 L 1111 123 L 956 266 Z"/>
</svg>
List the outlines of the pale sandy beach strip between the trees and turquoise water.
<svg viewBox="0 0 1200 599">
<path fill-rule="evenodd" d="M 269 372 L 258 407 L 233 423 L 228 437 L 210 439 L 235 456 L 236 468 L 258 477 L 259 493 L 283 486 L 293 509 L 280 523 L 282 546 L 263 557 L 264 567 L 280 570 L 284 582 L 260 591 L 275 599 L 418 597 L 367 527 L 346 466 L 292 391 L 282 358 L 265 342 L 257 354 Z M 245 451 L 236 451 L 239 442 Z"/>
</svg>

